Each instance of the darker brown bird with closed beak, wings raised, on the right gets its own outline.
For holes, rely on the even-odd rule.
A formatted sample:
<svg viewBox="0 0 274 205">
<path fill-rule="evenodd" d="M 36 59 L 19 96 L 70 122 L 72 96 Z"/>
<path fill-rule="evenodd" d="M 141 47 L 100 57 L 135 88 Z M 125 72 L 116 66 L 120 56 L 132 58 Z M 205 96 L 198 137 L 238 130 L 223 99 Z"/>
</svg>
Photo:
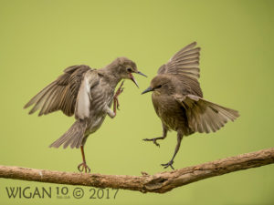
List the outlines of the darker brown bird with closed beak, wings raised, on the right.
<svg viewBox="0 0 274 205">
<path fill-rule="evenodd" d="M 174 158 L 180 149 L 181 140 L 195 132 L 215 132 L 222 128 L 227 120 L 239 117 L 237 110 L 225 108 L 203 98 L 200 88 L 199 56 L 200 47 L 196 43 L 185 46 L 158 70 L 158 75 L 151 81 L 151 86 L 142 94 L 153 91 L 153 107 L 162 120 L 163 136 L 161 138 L 144 138 L 145 141 L 157 143 L 167 131 L 177 132 L 177 145 L 173 158 L 164 168 L 173 167 Z"/>
</svg>

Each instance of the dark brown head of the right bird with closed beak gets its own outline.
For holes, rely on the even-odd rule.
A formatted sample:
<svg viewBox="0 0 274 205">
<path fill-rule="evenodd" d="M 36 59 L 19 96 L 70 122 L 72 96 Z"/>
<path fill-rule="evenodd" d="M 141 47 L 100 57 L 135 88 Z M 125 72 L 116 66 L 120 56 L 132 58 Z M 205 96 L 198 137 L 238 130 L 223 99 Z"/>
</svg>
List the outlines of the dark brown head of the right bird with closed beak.
<svg viewBox="0 0 274 205">
<path fill-rule="evenodd" d="M 172 77 L 167 75 L 158 75 L 151 81 L 151 86 L 147 87 L 142 94 L 153 91 L 156 94 L 172 94 L 174 84 Z"/>
</svg>

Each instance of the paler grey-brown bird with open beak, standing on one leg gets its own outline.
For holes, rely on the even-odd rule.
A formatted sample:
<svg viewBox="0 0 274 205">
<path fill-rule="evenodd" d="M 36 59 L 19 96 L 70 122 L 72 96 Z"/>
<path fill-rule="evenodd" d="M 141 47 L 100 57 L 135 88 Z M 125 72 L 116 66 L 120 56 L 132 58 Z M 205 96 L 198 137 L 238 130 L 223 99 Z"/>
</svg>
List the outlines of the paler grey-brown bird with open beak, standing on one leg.
<svg viewBox="0 0 274 205">
<path fill-rule="evenodd" d="M 24 108 L 34 105 L 29 114 L 40 109 L 38 116 L 57 110 L 62 110 L 68 117 L 74 115 L 75 123 L 49 147 L 58 148 L 63 145 L 64 149 L 68 146 L 71 149 L 80 148 L 83 162 L 79 164 L 78 169 L 90 172 L 84 154 L 86 140 L 100 128 L 106 115 L 111 118 L 116 116 L 116 108 L 119 108 L 118 96 L 123 90 L 123 82 L 115 94 L 114 91 L 121 79 L 131 79 L 138 87 L 132 73 L 145 76 L 138 71 L 136 64 L 126 57 L 118 57 L 110 65 L 100 69 L 85 65 L 68 67 L 63 75 L 30 99 Z"/>
</svg>

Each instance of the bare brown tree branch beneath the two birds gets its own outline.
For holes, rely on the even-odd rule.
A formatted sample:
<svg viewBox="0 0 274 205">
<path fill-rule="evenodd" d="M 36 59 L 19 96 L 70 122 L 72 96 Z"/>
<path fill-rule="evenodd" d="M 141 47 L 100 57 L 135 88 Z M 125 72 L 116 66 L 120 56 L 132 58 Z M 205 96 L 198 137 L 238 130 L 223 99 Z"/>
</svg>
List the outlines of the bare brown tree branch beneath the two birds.
<svg viewBox="0 0 274 205">
<path fill-rule="evenodd" d="M 164 193 L 201 179 L 271 163 L 274 163 L 274 148 L 154 175 L 148 175 L 145 172 L 142 172 L 142 176 L 83 174 L 0 166 L 0 178 Z"/>
</svg>

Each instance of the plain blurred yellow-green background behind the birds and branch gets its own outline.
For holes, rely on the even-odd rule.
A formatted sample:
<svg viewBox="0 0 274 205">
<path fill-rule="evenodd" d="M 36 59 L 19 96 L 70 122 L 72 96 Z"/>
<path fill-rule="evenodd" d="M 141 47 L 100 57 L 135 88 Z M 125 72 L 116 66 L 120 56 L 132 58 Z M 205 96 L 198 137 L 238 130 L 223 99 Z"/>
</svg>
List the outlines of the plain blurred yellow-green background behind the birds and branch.
<svg viewBox="0 0 274 205">
<path fill-rule="evenodd" d="M 78 149 L 48 149 L 73 123 L 61 112 L 38 118 L 23 106 L 64 68 L 104 67 L 127 56 L 148 75 L 126 81 L 117 118 L 90 136 L 92 172 L 141 175 L 163 171 L 176 134 L 161 148 L 142 138 L 162 134 L 151 95 L 141 96 L 158 67 L 197 41 L 205 98 L 241 117 L 212 134 L 182 141 L 179 169 L 273 147 L 273 1 L 0 1 L 0 164 L 77 171 Z M 165 194 L 120 190 L 115 200 L 8 199 L 5 187 L 58 185 L 0 179 L 0 204 L 273 204 L 274 166 L 205 179 Z M 61 187 L 61 186 L 60 186 Z M 69 191 L 74 189 L 68 186 Z"/>
</svg>

